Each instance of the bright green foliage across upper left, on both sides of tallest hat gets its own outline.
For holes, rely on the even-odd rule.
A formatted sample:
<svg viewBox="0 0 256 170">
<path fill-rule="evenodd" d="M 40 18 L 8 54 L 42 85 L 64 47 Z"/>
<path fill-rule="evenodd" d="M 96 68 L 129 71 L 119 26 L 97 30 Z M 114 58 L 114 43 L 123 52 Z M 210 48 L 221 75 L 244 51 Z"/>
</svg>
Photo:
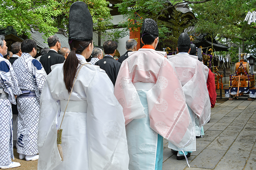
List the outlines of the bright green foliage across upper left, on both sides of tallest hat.
<svg viewBox="0 0 256 170">
<path fill-rule="evenodd" d="M 0 27 L 13 26 L 19 35 L 29 36 L 29 25 L 37 26 L 40 32 L 49 37 L 64 28 L 68 33 L 68 18 L 71 4 L 78 0 L 6 0 L 0 5 Z M 117 40 L 124 36 L 120 30 L 112 29 L 112 16 L 106 0 L 82 0 L 88 6 L 92 15 L 93 30 L 104 37 Z M 79 16 L 77 16 L 79 17 Z"/>
</svg>

